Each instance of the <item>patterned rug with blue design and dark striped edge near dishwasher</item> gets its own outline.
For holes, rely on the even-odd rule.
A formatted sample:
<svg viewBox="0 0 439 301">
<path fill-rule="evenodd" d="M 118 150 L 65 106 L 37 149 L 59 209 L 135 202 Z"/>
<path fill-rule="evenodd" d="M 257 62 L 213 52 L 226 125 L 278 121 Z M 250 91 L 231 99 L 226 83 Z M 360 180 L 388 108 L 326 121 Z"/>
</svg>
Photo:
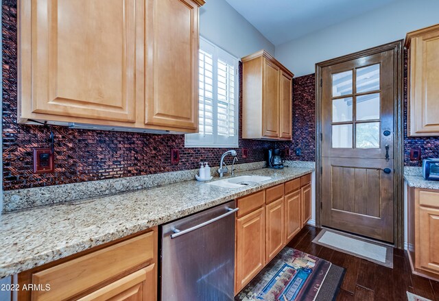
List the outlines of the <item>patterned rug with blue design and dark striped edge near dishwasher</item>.
<svg viewBox="0 0 439 301">
<path fill-rule="evenodd" d="M 286 247 L 238 293 L 235 300 L 335 300 L 343 277 L 342 267 Z"/>
</svg>

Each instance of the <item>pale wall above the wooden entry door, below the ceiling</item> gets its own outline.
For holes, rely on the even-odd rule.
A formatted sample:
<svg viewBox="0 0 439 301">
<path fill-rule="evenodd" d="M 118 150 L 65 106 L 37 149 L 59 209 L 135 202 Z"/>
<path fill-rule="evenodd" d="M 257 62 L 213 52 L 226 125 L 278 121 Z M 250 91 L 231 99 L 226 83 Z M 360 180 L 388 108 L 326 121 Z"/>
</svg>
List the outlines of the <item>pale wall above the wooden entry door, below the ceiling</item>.
<svg viewBox="0 0 439 301">
<path fill-rule="evenodd" d="M 438 0 L 399 0 L 282 45 L 275 57 L 295 76 L 315 72 L 315 64 L 401 40 L 412 30 L 439 23 Z M 294 30 L 294 29 L 292 29 Z"/>
</svg>

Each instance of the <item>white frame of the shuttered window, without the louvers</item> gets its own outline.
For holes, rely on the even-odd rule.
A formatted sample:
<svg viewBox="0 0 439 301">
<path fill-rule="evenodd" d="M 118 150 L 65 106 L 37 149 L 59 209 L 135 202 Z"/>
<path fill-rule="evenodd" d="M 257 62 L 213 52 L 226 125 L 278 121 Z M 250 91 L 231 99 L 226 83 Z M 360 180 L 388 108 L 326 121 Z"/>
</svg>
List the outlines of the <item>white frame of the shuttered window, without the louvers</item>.
<svg viewBox="0 0 439 301">
<path fill-rule="evenodd" d="M 209 40 L 206 40 L 205 38 L 200 37 L 200 53 L 201 51 L 204 51 L 205 53 L 209 53 L 209 55 L 212 56 L 213 61 L 213 89 L 212 94 L 213 97 L 211 99 L 212 101 L 212 128 L 213 130 L 210 133 L 206 134 L 205 130 L 201 130 L 202 128 L 205 129 L 206 123 L 204 118 L 199 119 L 199 128 L 200 133 L 195 134 L 185 134 L 185 147 L 238 147 L 239 143 L 239 59 L 235 56 L 232 56 L 230 53 L 224 51 L 223 49 L 217 47 L 217 45 L 209 42 Z M 233 66 L 234 68 L 234 87 L 230 88 L 230 83 L 227 84 L 227 89 L 230 93 L 230 95 L 233 95 L 233 107 L 235 108 L 233 115 L 230 115 L 230 111 L 228 111 L 228 118 L 233 116 L 233 121 L 228 121 L 230 123 L 234 124 L 233 127 L 233 134 L 228 136 L 220 135 L 218 134 L 218 106 L 219 106 L 219 100 L 218 100 L 218 60 L 222 60 L 223 62 L 226 62 L 229 66 Z M 199 59 L 199 89 L 200 92 L 202 92 L 202 85 L 200 84 L 201 80 L 202 82 L 206 81 L 206 78 L 204 77 L 204 67 L 201 66 L 200 59 Z M 202 72 L 203 71 L 203 72 Z M 202 79 L 203 77 L 203 79 Z M 205 91 L 204 91 L 205 92 Z M 206 106 L 201 106 L 202 104 L 205 104 L 206 98 L 205 93 L 199 93 L 199 95 L 204 95 L 199 97 L 199 114 L 204 117 L 206 116 Z M 204 111 L 202 109 L 204 108 Z M 228 123 L 228 127 L 230 127 L 230 123 Z M 230 129 L 229 129 L 230 130 Z"/>
</svg>

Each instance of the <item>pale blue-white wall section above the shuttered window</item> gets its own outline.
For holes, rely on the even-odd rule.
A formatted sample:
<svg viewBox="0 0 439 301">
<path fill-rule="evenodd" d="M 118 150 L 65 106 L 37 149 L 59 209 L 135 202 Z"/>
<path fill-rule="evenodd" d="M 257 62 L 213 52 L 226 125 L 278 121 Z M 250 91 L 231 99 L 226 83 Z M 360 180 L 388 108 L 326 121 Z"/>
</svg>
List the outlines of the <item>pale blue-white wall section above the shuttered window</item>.
<svg viewBox="0 0 439 301">
<path fill-rule="evenodd" d="M 200 8 L 200 35 L 241 58 L 274 45 L 225 0 L 207 0 Z"/>
</svg>

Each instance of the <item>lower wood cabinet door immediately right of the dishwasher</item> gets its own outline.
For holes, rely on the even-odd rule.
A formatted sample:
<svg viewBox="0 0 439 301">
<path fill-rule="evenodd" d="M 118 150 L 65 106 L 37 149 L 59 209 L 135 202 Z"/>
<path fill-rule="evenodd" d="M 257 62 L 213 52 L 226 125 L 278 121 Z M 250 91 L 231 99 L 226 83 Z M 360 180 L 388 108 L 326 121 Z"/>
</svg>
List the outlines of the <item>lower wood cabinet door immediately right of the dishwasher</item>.
<svg viewBox="0 0 439 301">
<path fill-rule="evenodd" d="M 265 207 L 237 219 L 235 293 L 265 264 Z"/>
</svg>

